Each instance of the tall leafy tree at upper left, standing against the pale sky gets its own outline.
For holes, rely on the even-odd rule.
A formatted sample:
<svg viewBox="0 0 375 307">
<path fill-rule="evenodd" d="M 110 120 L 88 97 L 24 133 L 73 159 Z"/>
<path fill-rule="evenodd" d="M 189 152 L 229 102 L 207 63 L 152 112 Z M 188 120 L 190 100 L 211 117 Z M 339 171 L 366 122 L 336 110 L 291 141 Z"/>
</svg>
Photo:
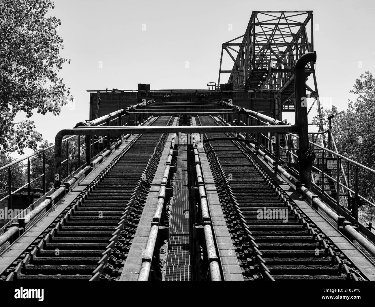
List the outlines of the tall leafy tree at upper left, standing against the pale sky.
<svg viewBox="0 0 375 307">
<path fill-rule="evenodd" d="M 60 113 L 61 106 L 73 101 L 57 72 L 70 59 L 62 58 L 63 39 L 57 35 L 61 24 L 47 12 L 54 9 L 48 0 L 0 0 L 0 152 L 24 148 L 36 150 L 42 135 L 34 121 L 14 123 L 15 115 L 33 111 Z"/>
</svg>

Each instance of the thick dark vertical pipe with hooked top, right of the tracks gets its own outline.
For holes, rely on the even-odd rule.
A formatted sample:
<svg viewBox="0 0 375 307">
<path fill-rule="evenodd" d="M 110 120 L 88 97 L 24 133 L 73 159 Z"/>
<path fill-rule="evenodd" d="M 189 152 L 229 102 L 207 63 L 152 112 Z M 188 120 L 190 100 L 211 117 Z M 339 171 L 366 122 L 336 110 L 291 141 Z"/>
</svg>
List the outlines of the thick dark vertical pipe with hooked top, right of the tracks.
<svg viewBox="0 0 375 307">
<path fill-rule="evenodd" d="M 303 54 L 294 66 L 294 95 L 296 99 L 296 123 L 297 133 L 299 135 L 299 156 L 300 181 L 305 187 L 311 186 L 311 163 L 305 157 L 305 153 L 309 151 L 309 126 L 307 117 L 307 101 L 306 101 L 306 76 L 305 66 L 310 62 L 317 61 L 317 53 L 307 52 Z"/>
</svg>

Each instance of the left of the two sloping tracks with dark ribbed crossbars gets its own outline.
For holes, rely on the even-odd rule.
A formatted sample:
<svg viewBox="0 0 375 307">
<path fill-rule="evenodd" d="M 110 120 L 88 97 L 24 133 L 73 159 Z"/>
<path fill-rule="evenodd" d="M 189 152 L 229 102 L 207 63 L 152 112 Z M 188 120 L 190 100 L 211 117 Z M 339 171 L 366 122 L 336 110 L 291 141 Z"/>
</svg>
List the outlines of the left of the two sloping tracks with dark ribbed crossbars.
<svg viewBox="0 0 375 307">
<path fill-rule="evenodd" d="M 171 126 L 158 117 L 152 126 Z M 116 280 L 168 135 L 138 135 L 0 277 Z"/>
</svg>

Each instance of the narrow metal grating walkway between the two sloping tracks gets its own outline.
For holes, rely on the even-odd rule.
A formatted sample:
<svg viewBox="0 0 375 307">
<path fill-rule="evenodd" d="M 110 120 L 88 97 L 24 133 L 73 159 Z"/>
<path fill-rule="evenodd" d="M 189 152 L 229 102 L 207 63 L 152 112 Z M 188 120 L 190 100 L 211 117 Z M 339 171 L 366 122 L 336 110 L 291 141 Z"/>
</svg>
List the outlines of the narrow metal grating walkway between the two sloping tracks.
<svg viewBox="0 0 375 307">
<path fill-rule="evenodd" d="M 169 244 L 166 257 L 165 281 L 194 280 L 191 221 L 189 217 L 189 178 L 187 172 L 187 147 L 178 146 L 177 172 L 174 184 L 175 200 L 169 215 Z"/>
</svg>

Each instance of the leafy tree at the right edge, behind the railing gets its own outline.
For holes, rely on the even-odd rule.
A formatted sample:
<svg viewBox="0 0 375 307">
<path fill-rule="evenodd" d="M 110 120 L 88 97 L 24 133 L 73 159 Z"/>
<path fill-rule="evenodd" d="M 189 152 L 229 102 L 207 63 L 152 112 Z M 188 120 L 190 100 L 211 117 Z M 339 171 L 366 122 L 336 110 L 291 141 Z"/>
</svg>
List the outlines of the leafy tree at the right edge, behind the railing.
<svg viewBox="0 0 375 307">
<path fill-rule="evenodd" d="M 348 100 L 348 109 L 338 111 L 322 108 L 323 122 L 327 128 L 327 117 L 332 118 L 332 134 L 338 152 L 369 168 L 375 169 L 375 79 L 366 71 L 360 75 L 350 93 L 357 95 L 356 100 Z M 318 118 L 315 117 L 315 124 Z M 350 171 L 350 186 L 354 188 L 354 166 Z M 359 168 L 359 194 L 366 199 L 375 201 L 375 175 L 363 168 Z M 374 209 L 363 207 L 365 214 L 374 219 Z"/>
</svg>

